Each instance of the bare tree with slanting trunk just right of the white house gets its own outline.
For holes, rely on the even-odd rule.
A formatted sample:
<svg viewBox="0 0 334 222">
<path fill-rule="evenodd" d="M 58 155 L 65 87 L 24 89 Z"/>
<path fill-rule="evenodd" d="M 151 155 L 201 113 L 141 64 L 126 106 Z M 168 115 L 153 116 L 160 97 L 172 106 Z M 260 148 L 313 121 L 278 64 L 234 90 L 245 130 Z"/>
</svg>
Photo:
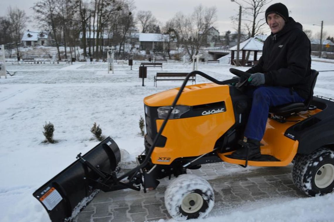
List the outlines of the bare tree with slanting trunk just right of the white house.
<svg viewBox="0 0 334 222">
<path fill-rule="evenodd" d="M 60 61 L 58 33 L 59 30 L 61 30 L 61 16 L 59 16 L 56 6 L 55 0 L 40 0 L 34 3 L 32 9 L 35 12 L 35 19 L 40 23 L 39 26 L 41 28 L 51 29 L 58 51 L 58 60 Z"/>
</svg>

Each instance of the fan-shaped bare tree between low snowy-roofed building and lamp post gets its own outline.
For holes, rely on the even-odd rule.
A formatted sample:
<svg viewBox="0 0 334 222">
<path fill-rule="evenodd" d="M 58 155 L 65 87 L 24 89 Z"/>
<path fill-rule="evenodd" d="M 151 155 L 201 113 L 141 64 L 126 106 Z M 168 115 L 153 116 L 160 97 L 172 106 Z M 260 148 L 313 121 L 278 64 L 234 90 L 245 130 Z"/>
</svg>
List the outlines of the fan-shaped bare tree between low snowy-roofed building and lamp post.
<svg viewBox="0 0 334 222">
<path fill-rule="evenodd" d="M 182 12 L 178 12 L 173 18 L 176 32 L 190 58 L 197 55 L 203 45 L 209 28 L 216 20 L 216 11 L 216 7 L 203 8 L 199 5 L 191 15 L 185 16 Z"/>
</svg>

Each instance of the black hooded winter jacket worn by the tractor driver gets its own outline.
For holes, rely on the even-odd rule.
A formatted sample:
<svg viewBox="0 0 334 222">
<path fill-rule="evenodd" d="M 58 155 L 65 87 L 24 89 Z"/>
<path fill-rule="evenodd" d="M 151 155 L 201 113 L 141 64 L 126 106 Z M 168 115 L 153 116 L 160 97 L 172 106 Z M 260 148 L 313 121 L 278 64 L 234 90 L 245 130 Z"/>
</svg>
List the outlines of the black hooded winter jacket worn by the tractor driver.
<svg viewBox="0 0 334 222">
<path fill-rule="evenodd" d="M 291 17 L 281 31 L 271 33 L 258 65 L 248 73 L 264 73 L 265 85 L 295 90 L 307 99 L 311 89 L 311 43 L 302 25 Z"/>
</svg>

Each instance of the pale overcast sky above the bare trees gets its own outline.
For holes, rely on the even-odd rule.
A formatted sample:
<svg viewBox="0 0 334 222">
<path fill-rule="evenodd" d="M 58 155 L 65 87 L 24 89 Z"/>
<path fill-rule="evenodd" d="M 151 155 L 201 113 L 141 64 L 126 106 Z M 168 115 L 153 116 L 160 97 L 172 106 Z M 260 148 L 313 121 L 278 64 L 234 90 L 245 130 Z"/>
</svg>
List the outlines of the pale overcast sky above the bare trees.
<svg viewBox="0 0 334 222">
<path fill-rule="evenodd" d="M 242 0 L 236 0 L 241 5 L 246 5 Z M 36 0 L 0 0 L 0 16 L 7 14 L 9 6 L 17 6 L 19 9 L 24 9 L 27 15 L 33 16 L 31 7 Z M 289 16 L 303 25 L 304 29 L 312 30 L 312 34 L 320 33 L 321 27 L 313 24 L 321 25 L 324 21 L 323 31 L 327 32 L 331 37 L 334 36 L 334 1 L 333 0 L 281 0 L 272 1 L 268 4 L 282 2 L 291 12 Z M 184 14 L 193 12 L 194 7 L 202 4 L 205 7 L 217 7 L 217 21 L 214 27 L 218 29 L 220 35 L 224 35 L 225 31 L 234 32 L 236 26 L 231 24 L 230 17 L 238 14 L 239 5 L 230 0 L 135 0 L 136 11 L 150 10 L 153 15 L 160 21 L 161 25 L 174 15 L 181 11 Z M 267 8 L 267 7 L 266 7 Z M 242 13 L 241 13 L 242 14 Z M 263 15 L 264 16 L 264 15 Z M 28 28 L 33 28 L 29 25 Z M 265 29 L 270 33 L 268 26 Z M 0 33 L 2 34 L 2 33 Z M 327 36 L 326 36 L 327 38 Z"/>
</svg>

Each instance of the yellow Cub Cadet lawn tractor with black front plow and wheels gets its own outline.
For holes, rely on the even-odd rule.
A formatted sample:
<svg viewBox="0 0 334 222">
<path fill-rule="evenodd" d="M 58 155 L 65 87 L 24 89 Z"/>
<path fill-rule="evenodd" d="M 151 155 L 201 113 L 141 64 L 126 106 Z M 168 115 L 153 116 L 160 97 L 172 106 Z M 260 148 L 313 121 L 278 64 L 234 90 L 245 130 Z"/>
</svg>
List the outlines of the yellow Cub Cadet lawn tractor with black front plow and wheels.
<svg viewBox="0 0 334 222">
<path fill-rule="evenodd" d="M 165 192 L 165 205 L 177 220 L 205 217 L 214 193 L 204 179 L 187 175 L 201 164 L 228 162 L 244 167 L 294 163 L 295 185 L 306 195 L 334 189 L 334 102 L 313 96 L 318 72 L 312 70 L 311 94 L 304 103 L 272 107 L 261 141 L 261 156 L 245 160 L 230 154 L 246 143 L 243 131 L 251 107 L 244 94 L 250 74 L 230 69 L 240 78 L 218 81 L 202 72 L 188 74 L 180 88 L 144 99 L 145 150 L 136 168 L 119 173 L 120 150 L 110 137 L 33 193 L 52 221 L 70 221 L 99 190 L 154 190 L 159 180 L 176 178 Z M 193 74 L 210 83 L 186 86 Z M 240 81 L 239 81 L 240 80 Z M 238 83 L 237 83 L 238 82 Z M 234 84 L 236 85 L 234 86 Z"/>
</svg>

